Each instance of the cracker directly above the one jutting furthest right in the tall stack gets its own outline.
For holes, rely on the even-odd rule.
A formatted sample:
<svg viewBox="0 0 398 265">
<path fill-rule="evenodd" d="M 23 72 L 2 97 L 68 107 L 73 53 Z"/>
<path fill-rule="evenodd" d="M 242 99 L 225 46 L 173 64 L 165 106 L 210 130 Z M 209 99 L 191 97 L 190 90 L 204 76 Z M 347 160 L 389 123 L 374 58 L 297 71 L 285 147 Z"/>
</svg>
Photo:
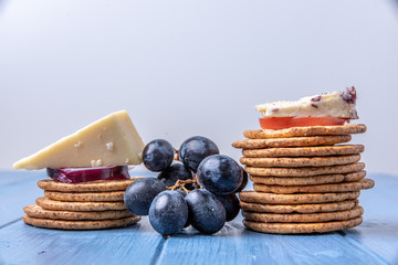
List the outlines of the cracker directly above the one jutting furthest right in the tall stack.
<svg viewBox="0 0 398 265">
<path fill-rule="evenodd" d="M 321 174 L 314 177 L 258 177 L 250 176 L 250 180 L 259 184 L 270 186 L 313 186 L 313 184 L 328 184 L 338 182 L 353 182 L 362 180 L 366 177 L 366 171 L 346 173 L 346 174 Z"/>
</svg>

